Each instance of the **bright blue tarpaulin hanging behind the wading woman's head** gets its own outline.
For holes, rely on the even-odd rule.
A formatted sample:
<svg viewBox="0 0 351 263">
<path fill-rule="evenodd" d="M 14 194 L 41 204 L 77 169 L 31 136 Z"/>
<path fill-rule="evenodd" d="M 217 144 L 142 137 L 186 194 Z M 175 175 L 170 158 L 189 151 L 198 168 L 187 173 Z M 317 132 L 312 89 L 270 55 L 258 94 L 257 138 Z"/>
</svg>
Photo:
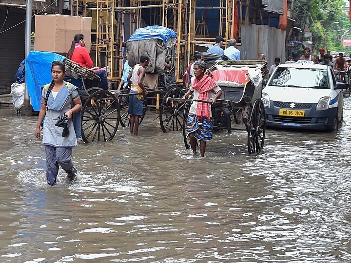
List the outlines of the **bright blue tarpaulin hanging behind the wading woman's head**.
<svg viewBox="0 0 351 263">
<path fill-rule="evenodd" d="M 34 111 L 41 106 L 41 86 L 52 80 L 51 63 L 55 60 L 63 61 L 64 56 L 51 52 L 31 51 L 25 61 L 27 76 L 27 90 Z"/>
</svg>

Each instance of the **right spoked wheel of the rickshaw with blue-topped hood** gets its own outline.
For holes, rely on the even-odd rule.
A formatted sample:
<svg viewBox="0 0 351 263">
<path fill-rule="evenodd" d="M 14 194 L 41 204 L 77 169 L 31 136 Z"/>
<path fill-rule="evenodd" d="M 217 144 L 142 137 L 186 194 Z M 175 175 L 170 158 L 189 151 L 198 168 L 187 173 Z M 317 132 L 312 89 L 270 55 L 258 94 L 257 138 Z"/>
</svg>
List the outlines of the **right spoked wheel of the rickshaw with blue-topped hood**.
<svg viewBox="0 0 351 263">
<path fill-rule="evenodd" d="M 186 104 L 176 101 L 167 102 L 167 98 L 182 98 L 184 94 L 185 92 L 180 87 L 173 85 L 164 95 L 159 110 L 160 126 L 163 132 L 182 129 Z"/>
</svg>

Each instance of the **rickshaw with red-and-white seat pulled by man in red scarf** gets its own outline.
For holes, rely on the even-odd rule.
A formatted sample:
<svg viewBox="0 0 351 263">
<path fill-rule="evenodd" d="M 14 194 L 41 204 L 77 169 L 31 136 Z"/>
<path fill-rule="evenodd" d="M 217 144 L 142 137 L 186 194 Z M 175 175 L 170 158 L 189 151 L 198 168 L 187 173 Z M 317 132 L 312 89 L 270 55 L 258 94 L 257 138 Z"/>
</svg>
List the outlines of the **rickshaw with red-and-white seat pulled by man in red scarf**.
<svg viewBox="0 0 351 263">
<path fill-rule="evenodd" d="M 266 115 L 261 100 L 262 80 L 267 69 L 263 60 L 228 60 L 221 61 L 207 70 L 223 93 L 212 106 L 213 129 L 246 131 L 249 154 L 260 152 L 266 133 Z M 186 132 L 186 116 L 190 104 L 195 100 L 166 98 L 168 102 L 186 103 L 183 118 L 183 138 L 186 149 L 190 149 L 190 140 Z M 205 103 L 211 101 L 196 100 Z M 234 127 L 232 126 L 234 125 Z M 243 128 L 242 126 L 245 126 Z"/>
</svg>

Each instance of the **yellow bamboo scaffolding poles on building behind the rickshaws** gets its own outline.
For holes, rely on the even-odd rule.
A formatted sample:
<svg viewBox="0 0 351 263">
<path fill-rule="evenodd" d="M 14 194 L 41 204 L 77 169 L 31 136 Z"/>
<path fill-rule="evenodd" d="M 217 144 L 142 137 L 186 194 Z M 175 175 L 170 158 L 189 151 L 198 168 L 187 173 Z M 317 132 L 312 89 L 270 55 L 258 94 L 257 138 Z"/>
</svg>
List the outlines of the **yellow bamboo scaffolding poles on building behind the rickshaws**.
<svg viewBox="0 0 351 263">
<path fill-rule="evenodd" d="M 109 62 L 110 80 L 119 79 L 122 75 L 122 59 L 125 57 L 122 42 L 126 41 L 137 28 L 144 25 L 142 18 L 147 19 L 149 17 L 148 24 L 151 25 L 170 26 L 178 36 L 171 59 L 176 66 L 176 80 L 180 81 L 192 55 L 196 50 L 199 50 L 199 47 L 196 47 L 197 44 L 213 45 L 217 35 L 223 36 L 226 40 L 236 37 L 233 35 L 235 0 L 218 0 L 218 6 L 209 7 L 197 6 L 200 3 L 199 1 L 202 0 L 130 0 L 129 6 L 125 6 L 126 2 L 124 0 L 72 0 L 71 12 L 72 15 L 78 16 L 78 13 L 81 14 L 82 11 L 84 11 L 84 15 L 87 13 L 91 15 L 93 10 L 97 11 L 96 19 L 100 26 L 97 26 L 97 44 L 92 43 L 92 46 L 96 47 L 96 61 L 100 61 L 100 63 L 101 56 L 99 54 L 103 54 L 102 50 L 106 51 L 105 60 L 106 65 Z M 244 1 L 245 5 L 250 4 L 250 0 Z M 93 5 L 85 4 L 88 2 Z M 239 2 L 240 25 L 244 21 L 241 20 L 243 3 L 242 1 Z M 146 5 L 143 5 L 144 3 Z M 203 4 L 201 3 L 201 5 Z M 148 11 L 145 10 L 150 10 L 150 16 L 147 13 Z M 197 19 L 200 19 L 196 17 L 196 11 L 199 10 L 219 12 L 219 18 L 216 18 L 219 19 L 218 29 L 215 33 L 212 30 L 210 32 L 212 35 L 209 37 L 195 36 Z M 126 19 L 126 16 L 130 16 L 130 22 L 128 22 L 129 19 Z M 115 19 L 117 21 L 116 25 L 114 24 Z M 206 18 L 204 19 L 206 20 Z M 126 25 L 126 22 L 129 24 Z M 107 29 L 107 27 L 109 28 Z M 240 36 L 240 26 L 238 29 Z M 101 39 L 105 41 L 102 43 L 100 42 Z"/>
</svg>

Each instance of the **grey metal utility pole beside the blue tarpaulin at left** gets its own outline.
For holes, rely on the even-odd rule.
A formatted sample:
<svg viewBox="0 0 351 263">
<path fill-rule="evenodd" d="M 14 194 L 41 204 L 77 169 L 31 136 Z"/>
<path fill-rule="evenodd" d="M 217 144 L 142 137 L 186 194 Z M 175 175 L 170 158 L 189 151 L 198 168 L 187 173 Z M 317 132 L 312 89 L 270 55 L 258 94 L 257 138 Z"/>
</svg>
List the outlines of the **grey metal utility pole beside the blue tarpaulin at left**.
<svg viewBox="0 0 351 263">
<path fill-rule="evenodd" d="M 26 0 L 26 30 L 25 30 L 25 58 L 29 55 L 31 49 L 32 34 L 32 0 Z M 25 71 L 27 69 L 25 68 Z M 32 115 L 32 106 L 30 105 L 30 97 L 27 90 L 27 73 L 24 74 L 24 103 L 21 108 L 22 114 L 25 116 Z"/>
</svg>

